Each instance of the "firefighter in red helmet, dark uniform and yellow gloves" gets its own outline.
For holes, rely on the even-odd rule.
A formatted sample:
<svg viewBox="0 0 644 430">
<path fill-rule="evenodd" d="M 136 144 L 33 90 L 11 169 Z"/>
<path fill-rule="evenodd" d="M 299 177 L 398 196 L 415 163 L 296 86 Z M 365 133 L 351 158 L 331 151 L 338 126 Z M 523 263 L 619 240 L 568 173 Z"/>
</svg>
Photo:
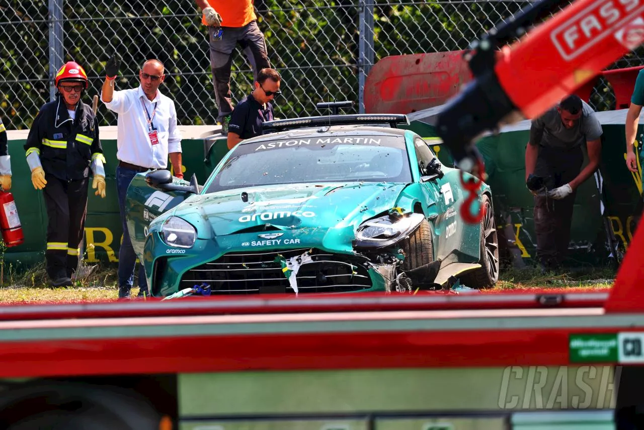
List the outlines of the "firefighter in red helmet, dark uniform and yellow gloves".
<svg viewBox="0 0 644 430">
<path fill-rule="evenodd" d="M 70 61 L 54 82 L 58 93 L 33 120 L 24 150 L 33 188 L 43 190 L 47 210 L 47 275 L 52 286 L 60 287 L 73 285 L 81 258 L 90 176 L 95 195 L 105 197 L 105 157 L 96 114 L 82 102 L 88 88 L 85 70 Z M 2 216 L 0 211 L 0 231 L 12 233 Z M 14 236 L 8 239 L 16 242 Z"/>
</svg>

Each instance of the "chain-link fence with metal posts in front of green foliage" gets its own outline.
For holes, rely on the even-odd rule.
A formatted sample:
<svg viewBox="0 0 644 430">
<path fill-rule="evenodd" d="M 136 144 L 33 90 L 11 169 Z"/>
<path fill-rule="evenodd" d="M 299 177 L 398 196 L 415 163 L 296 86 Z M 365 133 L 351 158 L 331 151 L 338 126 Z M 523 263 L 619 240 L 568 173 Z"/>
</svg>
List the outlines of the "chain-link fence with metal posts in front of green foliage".
<svg viewBox="0 0 644 430">
<path fill-rule="evenodd" d="M 242 1 L 242 0 L 239 0 Z M 255 1 L 269 59 L 283 76 L 278 117 L 315 113 L 319 101 L 362 101 L 370 66 L 388 55 L 462 50 L 473 39 L 531 2 L 524 0 L 263 0 Z M 207 29 L 194 0 L 10 0 L 0 2 L 0 115 L 8 128 L 29 128 L 52 99 L 56 70 L 81 63 L 89 95 L 100 93 L 104 64 L 122 59 L 117 89 L 138 86 L 150 57 L 166 65 L 162 91 L 175 99 L 182 124 L 213 124 L 216 105 Z M 612 67 L 641 64 L 644 50 Z M 234 52 L 234 103 L 252 89 L 252 72 Z M 89 103 L 90 97 L 86 97 Z M 603 81 L 591 104 L 614 108 Z M 102 124 L 115 116 L 100 110 Z"/>
</svg>

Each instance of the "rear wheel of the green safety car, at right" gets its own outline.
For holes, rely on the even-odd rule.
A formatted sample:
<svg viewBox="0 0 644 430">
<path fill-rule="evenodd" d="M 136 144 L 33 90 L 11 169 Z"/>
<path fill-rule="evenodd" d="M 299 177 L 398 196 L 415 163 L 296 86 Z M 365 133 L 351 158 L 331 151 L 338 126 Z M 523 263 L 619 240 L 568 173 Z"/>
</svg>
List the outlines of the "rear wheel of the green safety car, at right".
<svg viewBox="0 0 644 430">
<path fill-rule="evenodd" d="M 481 268 L 468 271 L 459 277 L 460 283 L 469 288 L 491 288 L 498 280 L 498 236 L 492 202 L 487 194 L 481 198 L 486 215 L 481 220 L 480 260 Z"/>
</svg>

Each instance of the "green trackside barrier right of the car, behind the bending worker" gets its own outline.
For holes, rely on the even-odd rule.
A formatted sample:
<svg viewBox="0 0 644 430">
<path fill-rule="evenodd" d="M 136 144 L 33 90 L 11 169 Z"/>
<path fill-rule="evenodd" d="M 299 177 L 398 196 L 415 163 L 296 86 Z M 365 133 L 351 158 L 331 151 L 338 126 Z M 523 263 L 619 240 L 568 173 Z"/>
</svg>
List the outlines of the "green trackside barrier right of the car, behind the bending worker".
<svg viewBox="0 0 644 430">
<path fill-rule="evenodd" d="M 642 192 L 641 167 L 638 175 L 626 168 L 626 112 L 597 113 L 603 128 L 600 164 L 603 193 L 598 192 L 596 178 L 592 176 L 577 192 L 570 244 L 572 264 L 609 264 L 607 237 L 616 240 L 621 251 L 624 251 L 634 235 Z M 411 121 L 408 128 L 426 137 L 430 145 L 435 143 L 432 148 L 440 161 L 451 166 L 453 161 L 448 151 L 442 148 L 437 133 L 427 123 L 433 115 L 435 112 L 430 112 L 420 121 Z M 533 198 L 526 189 L 525 181 L 529 127 L 529 121 L 522 121 L 503 128 L 498 135 L 486 135 L 477 142 L 489 175 L 487 182 L 493 193 L 500 250 L 506 261 L 515 267 L 531 264 L 536 249 Z M 643 131 L 639 126 L 638 136 Z"/>
</svg>

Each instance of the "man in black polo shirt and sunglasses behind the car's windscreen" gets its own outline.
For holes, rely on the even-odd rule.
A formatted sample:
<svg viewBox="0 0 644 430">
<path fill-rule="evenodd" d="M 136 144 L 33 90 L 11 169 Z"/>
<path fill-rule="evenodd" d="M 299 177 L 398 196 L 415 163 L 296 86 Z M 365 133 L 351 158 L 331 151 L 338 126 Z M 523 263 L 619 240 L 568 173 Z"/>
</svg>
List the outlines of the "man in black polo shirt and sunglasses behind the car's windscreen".
<svg viewBox="0 0 644 430">
<path fill-rule="evenodd" d="M 232 110 L 228 124 L 228 149 L 244 139 L 262 134 L 262 124 L 273 120 L 273 106 L 270 102 L 279 91 L 281 76 L 277 70 L 263 68 L 257 75 L 255 89 Z"/>
</svg>

